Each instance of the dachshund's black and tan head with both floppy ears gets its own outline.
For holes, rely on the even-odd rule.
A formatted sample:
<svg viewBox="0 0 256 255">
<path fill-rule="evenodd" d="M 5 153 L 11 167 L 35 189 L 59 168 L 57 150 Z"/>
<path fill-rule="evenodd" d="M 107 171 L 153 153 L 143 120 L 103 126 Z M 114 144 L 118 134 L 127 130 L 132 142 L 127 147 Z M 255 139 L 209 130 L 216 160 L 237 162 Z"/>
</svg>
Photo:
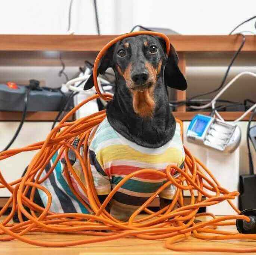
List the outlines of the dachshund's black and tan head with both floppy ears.
<svg viewBox="0 0 256 255">
<path fill-rule="evenodd" d="M 98 73 L 112 67 L 117 80 L 117 90 L 132 97 L 133 110 L 141 117 L 152 117 L 158 86 L 185 90 L 186 79 L 178 67 L 178 55 L 170 45 L 166 54 L 165 41 L 152 35 L 127 37 L 112 45 L 102 57 Z M 158 80 L 163 82 L 158 82 Z M 93 86 L 92 76 L 84 89 Z M 164 90 L 167 93 L 167 90 Z"/>
</svg>

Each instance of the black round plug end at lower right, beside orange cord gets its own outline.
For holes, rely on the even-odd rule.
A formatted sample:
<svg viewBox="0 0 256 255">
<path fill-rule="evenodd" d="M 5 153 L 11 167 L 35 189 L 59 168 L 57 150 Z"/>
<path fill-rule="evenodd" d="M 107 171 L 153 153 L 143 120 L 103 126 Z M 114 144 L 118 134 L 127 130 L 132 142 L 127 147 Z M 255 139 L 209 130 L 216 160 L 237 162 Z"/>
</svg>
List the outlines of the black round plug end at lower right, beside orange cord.
<svg viewBox="0 0 256 255">
<path fill-rule="evenodd" d="M 236 225 L 238 232 L 242 234 L 256 234 L 256 210 L 245 209 L 240 214 L 248 216 L 251 221 L 246 222 L 245 220 L 237 219 Z"/>
</svg>

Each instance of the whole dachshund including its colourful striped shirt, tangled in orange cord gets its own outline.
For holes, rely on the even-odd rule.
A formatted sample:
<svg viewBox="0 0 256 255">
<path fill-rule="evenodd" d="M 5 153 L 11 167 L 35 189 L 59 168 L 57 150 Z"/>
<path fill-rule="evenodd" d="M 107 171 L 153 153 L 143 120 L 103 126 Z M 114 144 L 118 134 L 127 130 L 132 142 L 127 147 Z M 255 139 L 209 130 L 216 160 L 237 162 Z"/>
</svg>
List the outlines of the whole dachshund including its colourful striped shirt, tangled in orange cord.
<svg viewBox="0 0 256 255">
<path fill-rule="evenodd" d="M 109 67 L 116 78 L 114 97 L 107 105 L 107 117 L 89 137 L 90 167 L 101 202 L 127 174 L 139 169 L 164 172 L 169 164 L 182 168 L 185 160 L 180 127 L 170 111 L 167 92 L 167 86 L 187 88 L 174 47 L 170 45 L 167 56 L 166 42 L 160 37 L 127 37 L 108 49 L 98 66 L 98 73 L 104 74 Z M 92 74 L 84 89 L 93 85 Z M 53 161 L 54 158 L 51 163 Z M 87 213 L 67 187 L 62 176 L 63 167 L 59 161 L 55 174 L 42 183 L 52 193 L 51 210 Z M 73 168 L 83 182 L 80 163 L 75 162 Z M 172 174 L 177 176 L 175 172 Z M 73 188 L 89 203 L 72 176 L 71 180 Z M 125 221 L 164 182 L 166 179 L 160 174 L 134 176 L 118 189 L 106 209 Z M 172 201 L 175 192 L 175 186 L 170 185 L 159 194 L 161 207 Z M 38 203 L 45 206 L 45 194 L 39 191 L 39 195 L 41 201 Z"/>
</svg>

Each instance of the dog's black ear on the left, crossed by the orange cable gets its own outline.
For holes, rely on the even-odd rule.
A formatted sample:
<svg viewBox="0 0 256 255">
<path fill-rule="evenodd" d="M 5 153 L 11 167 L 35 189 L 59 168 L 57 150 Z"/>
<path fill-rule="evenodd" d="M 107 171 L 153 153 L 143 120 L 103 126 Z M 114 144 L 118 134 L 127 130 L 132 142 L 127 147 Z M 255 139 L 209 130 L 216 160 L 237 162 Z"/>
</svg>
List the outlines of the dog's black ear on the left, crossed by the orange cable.
<svg viewBox="0 0 256 255">
<path fill-rule="evenodd" d="M 99 66 L 98 66 L 98 75 L 104 74 L 108 67 L 112 67 L 112 59 L 113 59 L 113 50 L 114 45 L 112 45 L 104 56 L 102 56 Z M 84 90 L 90 89 L 94 86 L 93 83 L 93 72 L 91 73 L 90 77 L 87 79 L 86 83 L 84 84 Z"/>
</svg>

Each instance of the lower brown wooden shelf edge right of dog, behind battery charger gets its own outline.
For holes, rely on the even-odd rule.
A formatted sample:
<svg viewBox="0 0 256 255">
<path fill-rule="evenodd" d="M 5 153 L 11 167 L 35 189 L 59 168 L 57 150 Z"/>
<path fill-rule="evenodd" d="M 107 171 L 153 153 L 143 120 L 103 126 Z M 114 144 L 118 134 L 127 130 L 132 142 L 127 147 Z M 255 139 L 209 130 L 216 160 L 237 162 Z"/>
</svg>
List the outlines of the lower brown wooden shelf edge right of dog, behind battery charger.
<svg viewBox="0 0 256 255">
<path fill-rule="evenodd" d="M 219 111 L 220 116 L 224 120 L 236 120 L 238 119 L 244 112 L 243 111 Z M 185 111 L 185 112 L 179 112 L 174 111 L 173 115 L 175 118 L 179 120 L 191 120 L 195 116 L 195 114 L 204 114 L 204 115 L 210 115 L 209 111 Z M 242 121 L 249 120 L 250 114 L 248 114 Z M 253 119 L 256 120 L 256 117 Z"/>
</svg>

